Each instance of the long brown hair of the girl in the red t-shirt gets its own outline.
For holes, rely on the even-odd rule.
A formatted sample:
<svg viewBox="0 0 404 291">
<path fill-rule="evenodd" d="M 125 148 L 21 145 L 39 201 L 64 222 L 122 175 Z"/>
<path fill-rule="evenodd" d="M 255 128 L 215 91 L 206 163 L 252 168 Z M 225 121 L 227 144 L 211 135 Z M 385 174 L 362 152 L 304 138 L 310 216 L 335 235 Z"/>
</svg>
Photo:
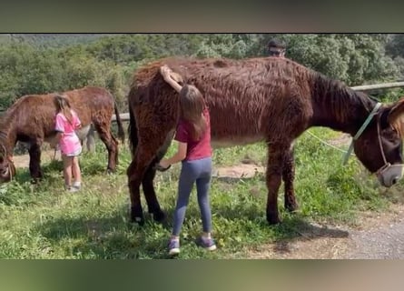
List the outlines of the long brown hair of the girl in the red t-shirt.
<svg viewBox="0 0 404 291">
<path fill-rule="evenodd" d="M 206 130 L 206 120 L 203 117 L 205 102 L 201 92 L 194 85 L 183 85 L 180 91 L 180 106 L 182 119 L 192 125 L 192 138 L 199 140 Z"/>
</svg>

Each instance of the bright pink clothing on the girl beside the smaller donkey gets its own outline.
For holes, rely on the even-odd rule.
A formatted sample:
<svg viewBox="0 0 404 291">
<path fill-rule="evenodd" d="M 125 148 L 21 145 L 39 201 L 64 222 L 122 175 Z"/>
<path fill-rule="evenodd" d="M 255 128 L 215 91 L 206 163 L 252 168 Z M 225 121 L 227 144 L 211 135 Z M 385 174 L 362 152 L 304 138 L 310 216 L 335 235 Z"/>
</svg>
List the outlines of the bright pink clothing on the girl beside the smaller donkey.
<svg viewBox="0 0 404 291">
<path fill-rule="evenodd" d="M 72 155 L 82 147 L 79 137 L 74 132 L 80 127 L 81 122 L 74 110 L 71 112 L 73 116 L 72 123 L 67 120 L 63 113 L 59 112 L 56 115 L 56 125 L 54 126 L 54 130 L 62 133 L 59 146 L 64 155 Z"/>
</svg>

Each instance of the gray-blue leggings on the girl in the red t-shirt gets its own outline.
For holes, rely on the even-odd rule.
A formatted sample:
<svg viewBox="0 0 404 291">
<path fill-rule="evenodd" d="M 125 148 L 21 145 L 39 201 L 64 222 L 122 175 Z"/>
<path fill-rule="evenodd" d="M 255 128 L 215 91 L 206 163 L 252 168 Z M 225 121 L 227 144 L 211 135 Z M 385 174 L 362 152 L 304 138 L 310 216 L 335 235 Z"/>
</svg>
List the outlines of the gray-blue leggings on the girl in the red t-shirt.
<svg viewBox="0 0 404 291">
<path fill-rule="evenodd" d="M 209 204 L 209 187 L 211 186 L 212 158 L 183 161 L 178 183 L 178 199 L 174 212 L 172 236 L 180 236 L 186 207 L 190 200 L 193 184 L 196 184 L 198 204 L 201 210 L 202 227 L 204 232 L 212 230 L 212 214 Z"/>
</svg>

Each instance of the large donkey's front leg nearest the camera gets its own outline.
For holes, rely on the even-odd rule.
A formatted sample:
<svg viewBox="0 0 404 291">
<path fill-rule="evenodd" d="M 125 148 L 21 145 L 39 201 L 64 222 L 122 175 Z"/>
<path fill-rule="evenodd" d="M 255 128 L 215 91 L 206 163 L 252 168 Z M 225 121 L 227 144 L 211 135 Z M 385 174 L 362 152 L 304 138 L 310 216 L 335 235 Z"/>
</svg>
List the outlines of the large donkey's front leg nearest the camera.
<svg viewBox="0 0 404 291">
<path fill-rule="evenodd" d="M 270 225 L 281 222 L 278 212 L 278 191 L 281 186 L 281 176 L 285 156 L 287 156 L 289 146 L 272 144 L 269 147 L 266 182 L 268 187 L 267 199 L 267 221 Z"/>
</svg>

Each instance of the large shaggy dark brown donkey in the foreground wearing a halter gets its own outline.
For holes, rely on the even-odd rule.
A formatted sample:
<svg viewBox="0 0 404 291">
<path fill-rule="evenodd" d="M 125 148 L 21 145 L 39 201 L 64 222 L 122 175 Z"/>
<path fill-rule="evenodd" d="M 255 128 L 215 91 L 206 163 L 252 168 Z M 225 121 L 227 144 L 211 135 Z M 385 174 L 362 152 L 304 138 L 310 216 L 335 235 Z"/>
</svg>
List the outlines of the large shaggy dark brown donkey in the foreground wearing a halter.
<svg viewBox="0 0 404 291">
<path fill-rule="evenodd" d="M 161 65 L 169 65 L 184 83 L 201 90 L 211 112 L 213 146 L 268 144 L 266 214 L 270 224 L 280 222 L 281 179 L 285 207 L 290 211 L 298 207 L 293 141 L 311 126 L 327 126 L 353 136 L 369 123 L 354 138 L 356 156 L 371 173 L 378 174 L 383 186 L 401 177 L 404 99 L 380 106 L 368 95 L 289 59 L 163 59 L 137 71 L 128 96 L 133 161 L 127 176 L 131 217 L 140 224 L 141 184 L 153 218 L 164 218 L 153 188 L 154 166 L 170 145 L 179 118 L 179 95 L 163 81 Z"/>
</svg>

